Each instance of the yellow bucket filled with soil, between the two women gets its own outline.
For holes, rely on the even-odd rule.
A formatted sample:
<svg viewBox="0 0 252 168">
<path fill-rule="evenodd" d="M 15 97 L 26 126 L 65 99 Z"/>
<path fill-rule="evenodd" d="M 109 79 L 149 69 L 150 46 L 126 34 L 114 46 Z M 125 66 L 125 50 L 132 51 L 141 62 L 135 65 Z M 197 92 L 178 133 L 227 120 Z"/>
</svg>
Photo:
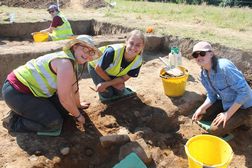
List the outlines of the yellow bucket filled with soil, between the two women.
<svg viewBox="0 0 252 168">
<path fill-rule="evenodd" d="M 182 96 L 185 92 L 186 81 L 188 79 L 188 70 L 182 66 L 179 66 L 181 71 L 184 73 L 183 76 L 179 77 L 168 77 L 162 78 L 164 92 L 167 96 L 177 97 Z M 160 76 L 165 73 L 165 69 L 161 69 Z"/>
</svg>

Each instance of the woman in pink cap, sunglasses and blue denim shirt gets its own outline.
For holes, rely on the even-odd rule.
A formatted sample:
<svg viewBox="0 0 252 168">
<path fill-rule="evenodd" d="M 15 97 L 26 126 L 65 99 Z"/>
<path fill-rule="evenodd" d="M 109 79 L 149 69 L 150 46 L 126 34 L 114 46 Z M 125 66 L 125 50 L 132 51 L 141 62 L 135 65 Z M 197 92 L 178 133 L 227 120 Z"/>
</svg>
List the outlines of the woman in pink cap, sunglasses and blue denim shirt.
<svg viewBox="0 0 252 168">
<path fill-rule="evenodd" d="M 252 90 L 241 71 L 231 61 L 217 58 L 208 42 L 195 44 L 192 57 L 202 68 L 200 78 L 207 91 L 192 120 L 213 121 L 209 132 L 224 136 L 252 114 Z"/>
</svg>

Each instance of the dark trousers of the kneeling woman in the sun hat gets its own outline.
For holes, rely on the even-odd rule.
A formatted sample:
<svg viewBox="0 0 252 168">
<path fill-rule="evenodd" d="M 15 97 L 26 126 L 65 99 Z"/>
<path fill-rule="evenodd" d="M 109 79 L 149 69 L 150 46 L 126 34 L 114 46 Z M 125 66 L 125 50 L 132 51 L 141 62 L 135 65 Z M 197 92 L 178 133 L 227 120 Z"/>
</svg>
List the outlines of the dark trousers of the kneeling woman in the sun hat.
<svg viewBox="0 0 252 168">
<path fill-rule="evenodd" d="M 4 82 L 2 95 L 17 118 L 11 126 L 15 132 L 58 130 L 63 124 L 63 116 L 68 114 L 57 95 L 40 98 L 33 94 L 20 93 L 7 80 Z"/>
</svg>

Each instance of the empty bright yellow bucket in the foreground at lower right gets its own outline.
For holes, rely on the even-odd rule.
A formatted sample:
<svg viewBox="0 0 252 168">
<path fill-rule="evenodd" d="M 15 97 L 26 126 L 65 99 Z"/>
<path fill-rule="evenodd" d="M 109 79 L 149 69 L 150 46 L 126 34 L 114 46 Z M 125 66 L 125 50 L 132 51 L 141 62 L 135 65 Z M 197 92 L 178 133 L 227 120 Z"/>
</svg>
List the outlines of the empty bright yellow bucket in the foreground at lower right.
<svg viewBox="0 0 252 168">
<path fill-rule="evenodd" d="M 227 168 L 233 150 L 223 139 L 213 135 L 197 135 L 185 145 L 189 168 Z"/>
</svg>

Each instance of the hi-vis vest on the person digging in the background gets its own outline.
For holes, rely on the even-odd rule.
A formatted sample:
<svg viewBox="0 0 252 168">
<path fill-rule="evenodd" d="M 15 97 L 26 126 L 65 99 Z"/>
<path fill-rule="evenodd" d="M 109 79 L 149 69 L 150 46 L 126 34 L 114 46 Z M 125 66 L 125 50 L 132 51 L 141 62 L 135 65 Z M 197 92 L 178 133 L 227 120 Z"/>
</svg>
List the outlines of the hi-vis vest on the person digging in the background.
<svg viewBox="0 0 252 168">
<path fill-rule="evenodd" d="M 61 17 L 63 24 L 56 27 L 50 34 L 53 41 L 64 40 L 73 35 L 69 21 L 60 13 L 58 13 L 57 16 Z"/>
</svg>

